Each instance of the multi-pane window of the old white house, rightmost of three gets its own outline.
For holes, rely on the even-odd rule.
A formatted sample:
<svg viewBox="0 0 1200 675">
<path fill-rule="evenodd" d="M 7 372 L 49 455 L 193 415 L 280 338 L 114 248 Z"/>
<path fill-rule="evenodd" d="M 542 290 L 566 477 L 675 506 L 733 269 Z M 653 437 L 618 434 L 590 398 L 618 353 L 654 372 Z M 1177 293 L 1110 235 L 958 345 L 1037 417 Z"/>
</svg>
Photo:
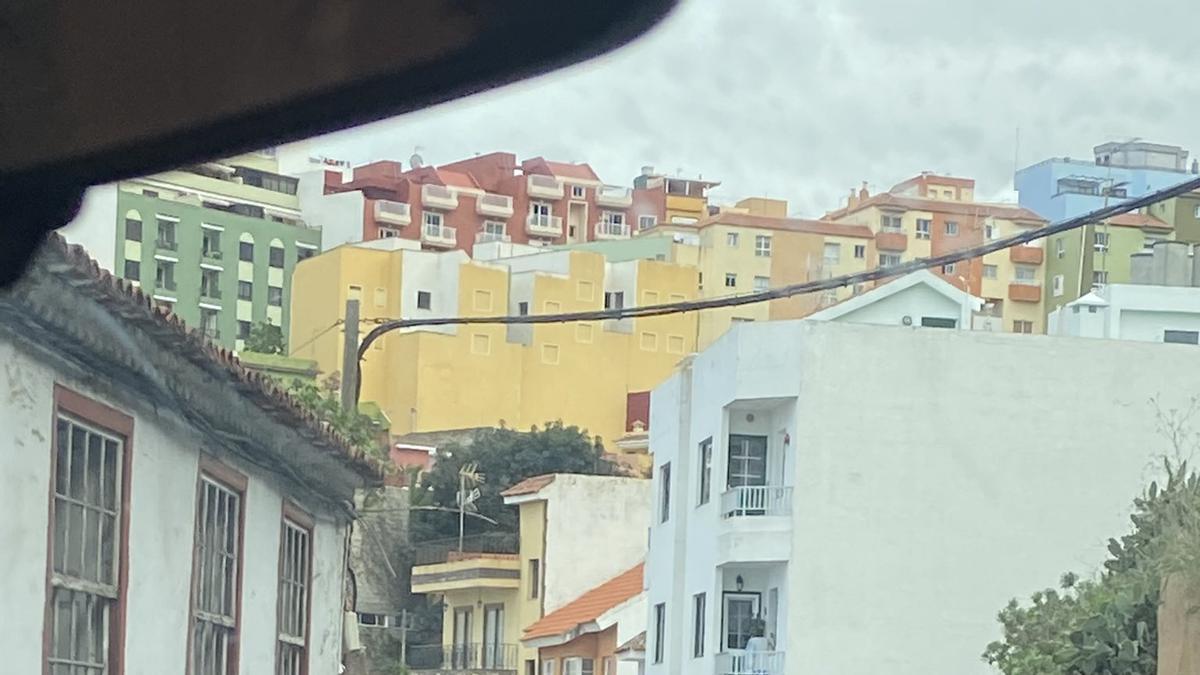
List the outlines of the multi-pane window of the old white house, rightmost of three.
<svg viewBox="0 0 1200 675">
<path fill-rule="evenodd" d="M 308 542 L 312 524 L 301 514 L 288 515 L 284 507 L 283 540 L 280 543 L 280 593 L 277 675 L 308 671 L 308 589 L 312 557 Z"/>
</svg>

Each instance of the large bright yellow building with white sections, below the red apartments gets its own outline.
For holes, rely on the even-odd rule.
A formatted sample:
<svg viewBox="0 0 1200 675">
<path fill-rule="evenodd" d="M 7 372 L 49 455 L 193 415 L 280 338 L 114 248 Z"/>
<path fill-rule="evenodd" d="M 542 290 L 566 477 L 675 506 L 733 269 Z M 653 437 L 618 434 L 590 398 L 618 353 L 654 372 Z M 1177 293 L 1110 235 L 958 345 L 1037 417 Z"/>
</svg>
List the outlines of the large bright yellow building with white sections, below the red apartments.
<svg viewBox="0 0 1200 675">
<path fill-rule="evenodd" d="M 346 301 L 372 318 L 482 317 L 599 310 L 696 297 L 694 268 L 610 262 L 590 251 L 472 261 L 398 239 L 346 245 L 298 265 L 292 356 L 340 371 Z M 372 328 L 364 323 L 361 334 Z M 626 399 L 695 351 L 696 316 L 534 325 L 425 327 L 386 334 L 362 363 L 362 401 L 394 434 L 562 419 L 606 440 L 628 429 Z"/>
</svg>

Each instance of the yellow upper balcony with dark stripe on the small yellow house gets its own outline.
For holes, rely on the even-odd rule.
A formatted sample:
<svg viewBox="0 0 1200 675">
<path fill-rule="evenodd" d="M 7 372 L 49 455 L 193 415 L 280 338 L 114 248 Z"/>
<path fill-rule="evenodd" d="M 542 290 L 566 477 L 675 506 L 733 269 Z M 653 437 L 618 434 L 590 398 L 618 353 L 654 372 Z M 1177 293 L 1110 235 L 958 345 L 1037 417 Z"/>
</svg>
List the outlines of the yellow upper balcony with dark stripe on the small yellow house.
<svg viewBox="0 0 1200 675">
<path fill-rule="evenodd" d="M 455 589 L 517 589 L 521 557 L 516 534 L 475 534 L 416 544 L 414 593 Z"/>
</svg>

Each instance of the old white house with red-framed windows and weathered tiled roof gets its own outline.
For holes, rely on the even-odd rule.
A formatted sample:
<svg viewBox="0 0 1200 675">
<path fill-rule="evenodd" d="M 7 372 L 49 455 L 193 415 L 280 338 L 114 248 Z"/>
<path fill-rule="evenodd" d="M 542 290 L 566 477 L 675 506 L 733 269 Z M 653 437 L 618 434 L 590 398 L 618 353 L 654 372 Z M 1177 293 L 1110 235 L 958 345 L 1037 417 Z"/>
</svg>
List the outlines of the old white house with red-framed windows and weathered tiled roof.
<svg viewBox="0 0 1200 675">
<path fill-rule="evenodd" d="M 337 673 L 374 465 L 53 237 L 0 293 L 5 673 Z"/>
</svg>

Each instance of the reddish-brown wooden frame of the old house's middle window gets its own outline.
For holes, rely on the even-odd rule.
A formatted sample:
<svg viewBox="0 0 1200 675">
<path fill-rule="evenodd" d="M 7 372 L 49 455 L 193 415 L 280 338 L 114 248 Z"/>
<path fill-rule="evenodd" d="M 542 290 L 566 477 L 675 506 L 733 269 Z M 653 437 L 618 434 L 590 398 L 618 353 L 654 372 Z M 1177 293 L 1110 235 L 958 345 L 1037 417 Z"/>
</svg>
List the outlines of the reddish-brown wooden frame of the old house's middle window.
<svg viewBox="0 0 1200 675">
<path fill-rule="evenodd" d="M 240 673 L 241 665 L 241 627 L 242 627 L 242 604 L 241 593 L 244 579 L 246 577 L 246 492 L 250 485 L 250 479 L 246 474 L 230 467 L 229 465 L 217 460 L 216 458 L 206 454 L 200 455 L 199 466 L 196 471 L 196 492 L 192 496 L 193 513 L 193 530 L 192 530 L 192 574 L 188 589 L 188 603 L 187 603 L 187 653 L 185 655 L 186 663 L 184 664 L 184 673 L 186 675 L 192 675 L 192 650 L 194 649 L 193 638 L 196 635 L 196 592 L 197 592 L 197 578 L 196 574 L 199 567 L 199 546 L 197 545 L 197 538 L 199 537 L 200 525 L 199 525 L 199 497 L 200 490 L 204 489 L 204 478 L 208 477 L 216 483 L 220 483 L 223 488 L 232 492 L 238 494 L 240 504 L 238 508 L 238 583 L 234 592 L 234 629 L 229 638 L 229 659 L 226 663 L 226 673 L 228 675 L 236 675 Z M 277 640 L 278 638 L 276 638 Z"/>
</svg>

